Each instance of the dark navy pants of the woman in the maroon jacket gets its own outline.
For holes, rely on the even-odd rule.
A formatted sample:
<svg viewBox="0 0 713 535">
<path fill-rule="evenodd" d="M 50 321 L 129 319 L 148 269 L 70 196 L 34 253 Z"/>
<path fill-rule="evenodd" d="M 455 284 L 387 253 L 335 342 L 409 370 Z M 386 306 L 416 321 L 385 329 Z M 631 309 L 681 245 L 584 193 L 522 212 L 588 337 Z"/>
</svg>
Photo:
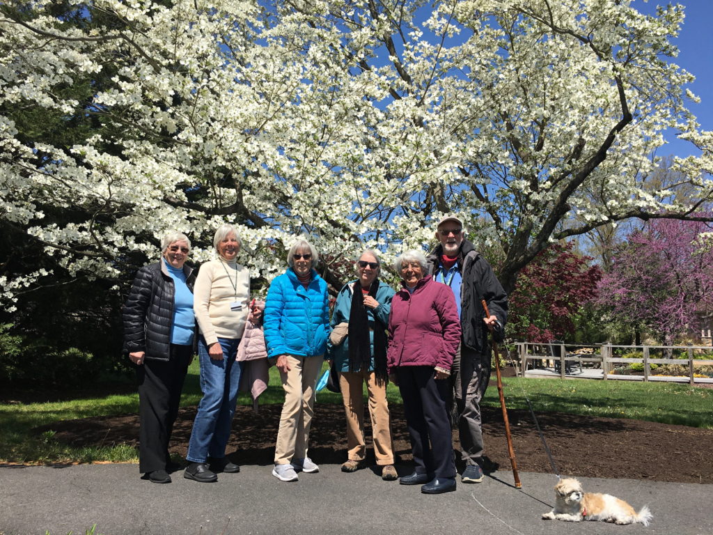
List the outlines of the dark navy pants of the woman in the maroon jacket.
<svg viewBox="0 0 713 535">
<path fill-rule="evenodd" d="M 416 472 L 455 477 L 451 424 L 446 411 L 451 385 L 446 379 L 436 381 L 435 374 L 430 366 L 396 368 Z"/>
</svg>

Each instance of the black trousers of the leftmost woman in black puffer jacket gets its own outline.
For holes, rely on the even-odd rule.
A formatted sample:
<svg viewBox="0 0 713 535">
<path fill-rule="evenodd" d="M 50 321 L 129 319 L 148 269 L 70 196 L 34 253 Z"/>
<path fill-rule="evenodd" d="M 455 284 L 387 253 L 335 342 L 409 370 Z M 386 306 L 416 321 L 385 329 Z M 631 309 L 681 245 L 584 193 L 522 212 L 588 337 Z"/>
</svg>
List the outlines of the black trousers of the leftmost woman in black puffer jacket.
<svg viewBox="0 0 713 535">
<path fill-rule="evenodd" d="M 171 344 L 169 360 L 145 359 L 137 367 L 139 472 L 163 470 L 170 460 L 168 442 L 192 356 L 193 346 Z"/>
</svg>

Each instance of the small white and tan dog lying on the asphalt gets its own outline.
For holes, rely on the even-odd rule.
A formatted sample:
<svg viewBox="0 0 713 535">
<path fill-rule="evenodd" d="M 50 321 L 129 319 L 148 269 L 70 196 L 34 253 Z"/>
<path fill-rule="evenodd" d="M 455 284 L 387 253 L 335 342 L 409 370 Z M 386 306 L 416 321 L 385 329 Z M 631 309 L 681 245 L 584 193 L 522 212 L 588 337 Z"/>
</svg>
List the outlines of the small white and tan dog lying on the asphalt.
<svg viewBox="0 0 713 535">
<path fill-rule="evenodd" d="M 601 520 L 613 524 L 649 525 L 651 512 L 643 506 L 638 513 L 626 501 L 610 494 L 585 492 L 577 479 L 560 479 L 555 485 L 555 509 L 543 514 L 543 519 L 568 522 Z"/>
</svg>

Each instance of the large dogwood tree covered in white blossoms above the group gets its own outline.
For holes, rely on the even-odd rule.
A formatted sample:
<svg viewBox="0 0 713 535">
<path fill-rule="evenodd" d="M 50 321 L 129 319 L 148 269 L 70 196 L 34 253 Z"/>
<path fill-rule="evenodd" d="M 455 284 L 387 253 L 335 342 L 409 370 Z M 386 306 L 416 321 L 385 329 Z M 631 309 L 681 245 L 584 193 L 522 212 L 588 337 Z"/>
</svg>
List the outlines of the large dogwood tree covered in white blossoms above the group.
<svg viewBox="0 0 713 535">
<path fill-rule="evenodd" d="M 626 218 L 697 220 L 713 134 L 672 63 L 681 6 L 627 0 L 9 0 L 0 6 L 0 219 L 50 271 L 123 280 L 184 230 L 234 222 L 253 275 L 307 235 L 330 265 L 486 217 L 512 290 L 552 240 Z M 78 96 L 68 88 L 85 88 Z M 74 136 L 21 121 L 41 110 Z M 41 116 L 41 115 L 40 115 Z M 644 180 L 666 128 L 685 199 Z M 691 195 L 690 192 L 694 194 Z"/>
</svg>

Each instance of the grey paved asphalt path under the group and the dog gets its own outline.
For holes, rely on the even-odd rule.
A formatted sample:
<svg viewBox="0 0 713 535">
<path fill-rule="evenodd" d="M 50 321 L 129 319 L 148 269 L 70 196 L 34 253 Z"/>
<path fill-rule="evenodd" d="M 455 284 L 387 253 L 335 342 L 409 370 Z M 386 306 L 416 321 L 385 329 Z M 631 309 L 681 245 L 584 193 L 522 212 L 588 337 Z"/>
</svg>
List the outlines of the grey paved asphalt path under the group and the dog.
<svg viewBox="0 0 713 535">
<path fill-rule="evenodd" d="M 342 474 L 327 464 L 295 483 L 271 469 L 244 466 L 212 484 L 175 472 L 173 483 L 159 485 L 140 479 L 135 464 L 0 465 L 0 535 L 83 535 L 93 524 L 104 535 L 713 534 L 713 485 L 582 478 L 587 491 L 650 506 L 650 526 L 615 526 L 540 519 L 554 502 L 552 474 L 520 474 L 518 490 L 500 471 L 428 496 L 371 469 Z"/>
</svg>

